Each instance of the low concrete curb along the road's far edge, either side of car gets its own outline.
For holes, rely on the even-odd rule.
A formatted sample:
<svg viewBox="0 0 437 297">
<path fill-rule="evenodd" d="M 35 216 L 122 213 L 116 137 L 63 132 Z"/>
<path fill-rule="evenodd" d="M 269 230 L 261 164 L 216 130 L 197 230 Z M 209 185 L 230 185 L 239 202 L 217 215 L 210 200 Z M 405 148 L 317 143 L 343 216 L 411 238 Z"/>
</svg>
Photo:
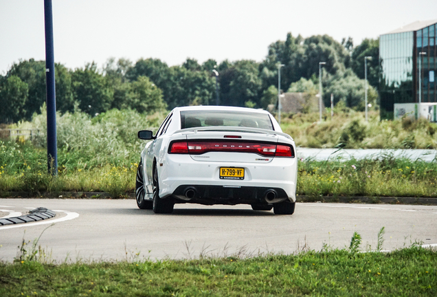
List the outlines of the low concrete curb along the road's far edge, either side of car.
<svg viewBox="0 0 437 297">
<path fill-rule="evenodd" d="M 75 199 L 135 199 L 134 192 L 124 193 L 122 197 L 111 197 L 108 192 L 43 192 L 32 195 L 30 192 L 0 192 L 3 198 L 75 198 Z M 344 197 L 344 196 L 305 196 L 298 195 L 298 202 L 341 202 L 341 203 L 388 203 L 388 204 L 425 204 L 437 205 L 437 198 L 424 197 Z"/>
</svg>

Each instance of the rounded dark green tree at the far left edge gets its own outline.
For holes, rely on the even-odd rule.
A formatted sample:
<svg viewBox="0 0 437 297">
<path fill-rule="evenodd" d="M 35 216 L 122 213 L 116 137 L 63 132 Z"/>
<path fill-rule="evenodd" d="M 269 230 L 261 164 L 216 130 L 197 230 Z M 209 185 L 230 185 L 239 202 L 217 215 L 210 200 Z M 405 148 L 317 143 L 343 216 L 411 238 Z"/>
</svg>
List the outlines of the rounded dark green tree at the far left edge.
<svg viewBox="0 0 437 297">
<path fill-rule="evenodd" d="M 9 76 L 0 86 L 0 122 L 18 122 L 25 113 L 29 87 L 18 76 Z"/>
</svg>

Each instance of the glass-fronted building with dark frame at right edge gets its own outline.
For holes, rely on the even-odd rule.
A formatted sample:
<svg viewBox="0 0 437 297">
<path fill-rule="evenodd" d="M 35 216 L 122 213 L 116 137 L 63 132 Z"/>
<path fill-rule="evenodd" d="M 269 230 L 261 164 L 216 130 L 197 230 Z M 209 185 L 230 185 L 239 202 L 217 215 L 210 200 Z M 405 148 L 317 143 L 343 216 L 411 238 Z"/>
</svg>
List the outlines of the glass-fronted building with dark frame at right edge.
<svg viewBox="0 0 437 297">
<path fill-rule="evenodd" d="M 381 119 L 394 103 L 437 102 L 437 19 L 416 21 L 379 36 Z"/>
</svg>

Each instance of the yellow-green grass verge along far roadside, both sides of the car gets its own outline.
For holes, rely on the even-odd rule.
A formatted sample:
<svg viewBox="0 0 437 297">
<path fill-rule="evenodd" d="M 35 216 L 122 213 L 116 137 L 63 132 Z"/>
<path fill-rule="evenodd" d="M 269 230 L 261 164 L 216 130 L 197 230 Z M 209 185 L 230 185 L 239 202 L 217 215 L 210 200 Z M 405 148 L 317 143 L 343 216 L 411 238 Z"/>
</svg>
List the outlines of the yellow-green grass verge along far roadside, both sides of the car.
<svg viewBox="0 0 437 297">
<path fill-rule="evenodd" d="M 138 153 L 89 165 L 59 152 L 58 177 L 47 174 L 43 148 L 28 142 L 0 141 L 0 192 L 109 192 L 126 197 L 135 188 Z M 95 156 L 102 158 L 102 156 Z M 92 162 L 90 162 L 92 163 Z M 383 155 L 379 159 L 314 161 L 298 164 L 298 195 L 437 197 L 437 162 L 410 161 Z"/>
</svg>

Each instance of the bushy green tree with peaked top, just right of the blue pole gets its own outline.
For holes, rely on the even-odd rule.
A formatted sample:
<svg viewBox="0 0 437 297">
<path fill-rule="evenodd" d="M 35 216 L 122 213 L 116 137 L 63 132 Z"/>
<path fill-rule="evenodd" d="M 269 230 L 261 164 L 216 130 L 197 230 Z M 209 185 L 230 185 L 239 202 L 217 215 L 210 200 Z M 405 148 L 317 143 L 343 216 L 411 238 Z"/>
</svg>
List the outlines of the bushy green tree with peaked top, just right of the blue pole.
<svg viewBox="0 0 437 297">
<path fill-rule="evenodd" d="M 79 108 L 90 115 L 109 110 L 113 100 L 113 89 L 102 74 L 98 72 L 96 63 L 76 69 L 71 75 L 74 98 Z"/>
</svg>

